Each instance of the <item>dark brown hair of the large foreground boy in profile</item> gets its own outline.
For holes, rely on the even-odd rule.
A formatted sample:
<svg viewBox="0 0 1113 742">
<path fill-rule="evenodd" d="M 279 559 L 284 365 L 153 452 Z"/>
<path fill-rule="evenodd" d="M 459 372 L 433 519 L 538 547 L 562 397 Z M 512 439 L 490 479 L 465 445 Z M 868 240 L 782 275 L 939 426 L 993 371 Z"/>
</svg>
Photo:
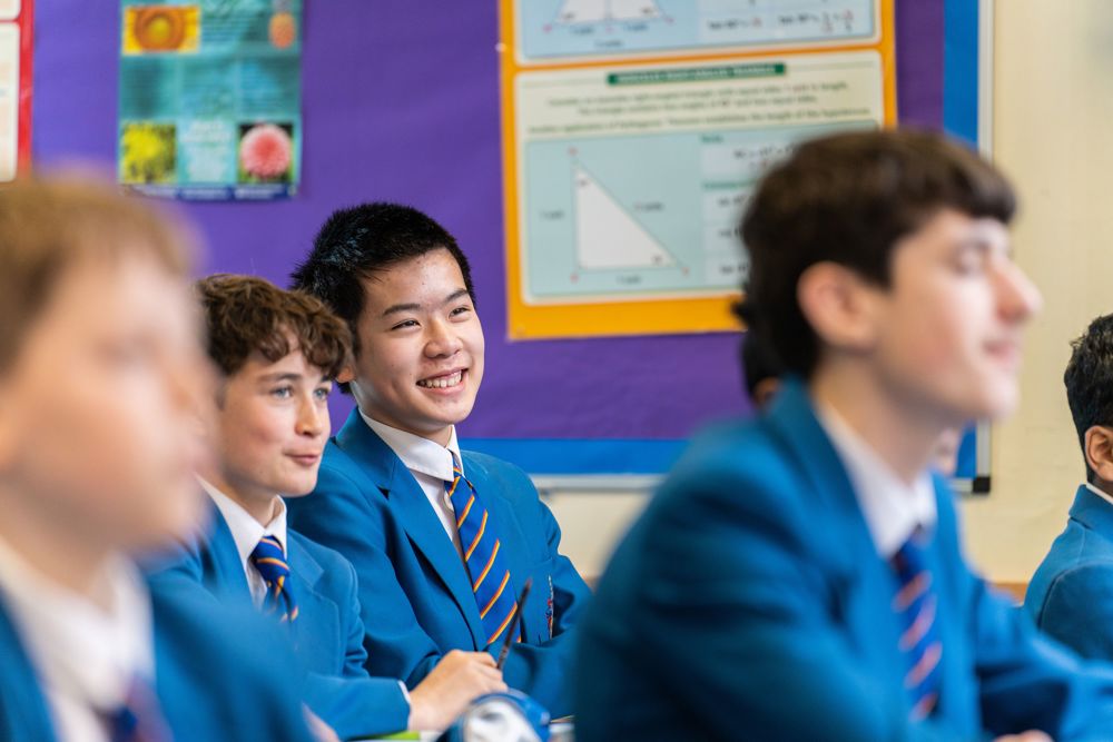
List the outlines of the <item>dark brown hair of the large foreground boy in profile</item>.
<svg viewBox="0 0 1113 742">
<path fill-rule="evenodd" d="M 830 261 L 887 287 L 896 244 L 948 208 L 1007 224 L 1016 198 L 996 168 L 939 133 L 890 129 L 805 142 L 769 170 L 747 207 L 750 270 L 736 313 L 786 370 L 810 377 L 820 348 L 797 301 L 804 271 Z"/>
</svg>

